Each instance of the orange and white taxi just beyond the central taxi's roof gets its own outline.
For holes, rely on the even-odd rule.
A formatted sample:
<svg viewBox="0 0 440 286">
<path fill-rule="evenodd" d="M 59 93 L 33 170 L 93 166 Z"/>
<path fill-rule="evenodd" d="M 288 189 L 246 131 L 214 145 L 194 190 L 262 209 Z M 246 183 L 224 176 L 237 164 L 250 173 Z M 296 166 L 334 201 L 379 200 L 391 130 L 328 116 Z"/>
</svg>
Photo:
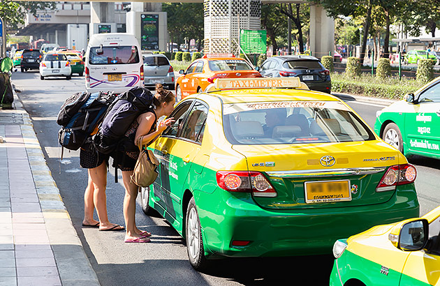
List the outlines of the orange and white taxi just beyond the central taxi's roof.
<svg viewBox="0 0 440 286">
<path fill-rule="evenodd" d="M 179 70 L 179 74 L 176 81 L 177 101 L 204 91 L 217 78 L 262 77 L 246 60 L 233 54 L 205 54 L 186 70 Z"/>
</svg>

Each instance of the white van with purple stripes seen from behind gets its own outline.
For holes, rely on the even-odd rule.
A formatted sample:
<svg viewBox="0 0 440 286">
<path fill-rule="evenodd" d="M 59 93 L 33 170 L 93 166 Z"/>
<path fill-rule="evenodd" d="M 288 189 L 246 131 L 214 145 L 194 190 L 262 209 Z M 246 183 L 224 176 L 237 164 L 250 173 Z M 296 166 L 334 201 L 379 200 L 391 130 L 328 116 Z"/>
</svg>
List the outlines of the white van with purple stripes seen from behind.
<svg viewBox="0 0 440 286">
<path fill-rule="evenodd" d="M 85 84 L 89 92 L 122 93 L 144 84 L 140 46 L 129 33 L 97 33 L 85 54 Z"/>
</svg>

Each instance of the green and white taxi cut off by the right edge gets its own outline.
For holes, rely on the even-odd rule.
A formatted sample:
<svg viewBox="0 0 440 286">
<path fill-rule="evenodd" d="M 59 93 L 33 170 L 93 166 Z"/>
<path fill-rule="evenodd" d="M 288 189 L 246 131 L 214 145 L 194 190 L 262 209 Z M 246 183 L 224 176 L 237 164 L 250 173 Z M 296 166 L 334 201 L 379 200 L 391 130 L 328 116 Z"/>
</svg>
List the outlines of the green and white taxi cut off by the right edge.
<svg viewBox="0 0 440 286">
<path fill-rule="evenodd" d="M 440 77 L 376 113 L 374 131 L 406 156 L 440 158 Z"/>
</svg>

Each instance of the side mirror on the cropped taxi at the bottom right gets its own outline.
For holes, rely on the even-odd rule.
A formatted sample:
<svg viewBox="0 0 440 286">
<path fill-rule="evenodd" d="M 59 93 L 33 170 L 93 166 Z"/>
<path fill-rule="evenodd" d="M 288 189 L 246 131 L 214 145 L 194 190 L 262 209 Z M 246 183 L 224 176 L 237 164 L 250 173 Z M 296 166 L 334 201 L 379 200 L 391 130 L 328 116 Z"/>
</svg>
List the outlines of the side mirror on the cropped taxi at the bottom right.
<svg viewBox="0 0 440 286">
<path fill-rule="evenodd" d="M 418 218 L 409 221 L 404 220 L 404 222 L 395 225 L 388 239 L 400 250 L 417 251 L 425 248 L 428 237 L 428 221 L 425 218 Z"/>
</svg>

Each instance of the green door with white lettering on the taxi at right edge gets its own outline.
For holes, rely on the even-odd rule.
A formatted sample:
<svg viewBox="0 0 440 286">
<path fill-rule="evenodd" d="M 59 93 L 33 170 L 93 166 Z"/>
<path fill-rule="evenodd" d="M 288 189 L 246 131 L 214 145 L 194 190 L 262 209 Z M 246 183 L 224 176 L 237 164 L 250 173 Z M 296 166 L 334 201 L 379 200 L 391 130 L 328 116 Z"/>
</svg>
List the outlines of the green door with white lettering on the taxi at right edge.
<svg viewBox="0 0 440 286">
<path fill-rule="evenodd" d="M 411 153 L 440 158 L 440 84 L 425 89 L 411 107 L 402 126 L 406 146 Z"/>
</svg>

